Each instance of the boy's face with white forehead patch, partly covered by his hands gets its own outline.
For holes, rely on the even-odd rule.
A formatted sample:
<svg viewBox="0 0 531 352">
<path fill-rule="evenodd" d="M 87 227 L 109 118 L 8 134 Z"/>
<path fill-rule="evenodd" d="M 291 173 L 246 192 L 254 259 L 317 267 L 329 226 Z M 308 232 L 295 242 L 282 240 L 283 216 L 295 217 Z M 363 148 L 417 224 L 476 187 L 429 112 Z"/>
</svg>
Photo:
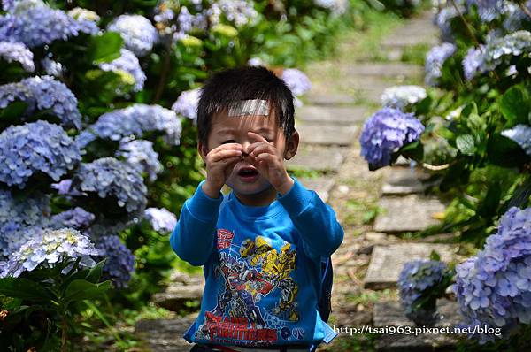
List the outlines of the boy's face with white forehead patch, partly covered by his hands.
<svg viewBox="0 0 531 352">
<path fill-rule="evenodd" d="M 208 151 L 224 143 L 240 143 L 242 149 L 246 152 L 250 144 L 258 142 L 250 138 L 248 132 L 260 134 L 266 138 L 267 142 L 273 144 L 276 149 L 281 151 L 285 158 L 291 158 L 296 153 L 296 144 L 298 138 L 290 138 L 286 141 L 284 132 L 279 127 L 274 112 L 266 115 L 245 115 L 245 116 L 228 116 L 227 111 L 219 111 L 212 116 L 211 130 L 208 136 L 208 145 L 204 146 L 199 142 L 199 149 L 203 150 L 204 155 Z M 296 134 L 296 132 L 294 133 Z M 298 137 L 298 135 L 297 135 Z M 294 141 L 296 140 L 296 141 Z M 231 187 L 238 195 L 255 195 L 260 194 L 272 187 L 266 178 L 258 171 L 253 176 L 242 175 L 243 168 L 254 167 L 249 162 L 249 157 L 244 157 L 239 161 L 232 172 L 227 177 L 227 186 Z"/>
</svg>

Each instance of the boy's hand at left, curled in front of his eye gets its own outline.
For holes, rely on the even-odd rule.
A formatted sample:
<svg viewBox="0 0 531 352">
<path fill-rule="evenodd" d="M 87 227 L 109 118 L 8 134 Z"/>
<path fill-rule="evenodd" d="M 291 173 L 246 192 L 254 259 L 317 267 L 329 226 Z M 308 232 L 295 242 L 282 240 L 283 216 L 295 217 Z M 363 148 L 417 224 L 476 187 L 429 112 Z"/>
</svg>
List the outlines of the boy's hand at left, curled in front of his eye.
<svg viewBox="0 0 531 352">
<path fill-rule="evenodd" d="M 205 156 L 206 180 L 203 192 L 211 198 L 218 198 L 221 187 L 230 176 L 235 165 L 242 159 L 242 144 L 226 143 L 212 149 Z"/>
</svg>

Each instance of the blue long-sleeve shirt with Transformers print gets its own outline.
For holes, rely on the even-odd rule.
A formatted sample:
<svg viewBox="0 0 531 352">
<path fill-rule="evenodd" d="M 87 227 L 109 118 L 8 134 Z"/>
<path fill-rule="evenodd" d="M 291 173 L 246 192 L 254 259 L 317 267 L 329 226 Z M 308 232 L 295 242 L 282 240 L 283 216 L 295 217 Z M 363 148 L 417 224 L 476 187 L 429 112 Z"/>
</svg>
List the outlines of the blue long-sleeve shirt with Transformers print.
<svg viewBox="0 0 531 352">
<path fill-rule="evenodd" d="M 184 338 L 232 346 L 329 341 L 317 309 L 321 258 L 343 238 L 332 208 L 295 184 L 268 206 L 242 204 L 231 192 L 205 195 L 204 181 L 183 205 L 170 237 L 175 253 L 204 265 L 201 310 Z"/>
</svg>

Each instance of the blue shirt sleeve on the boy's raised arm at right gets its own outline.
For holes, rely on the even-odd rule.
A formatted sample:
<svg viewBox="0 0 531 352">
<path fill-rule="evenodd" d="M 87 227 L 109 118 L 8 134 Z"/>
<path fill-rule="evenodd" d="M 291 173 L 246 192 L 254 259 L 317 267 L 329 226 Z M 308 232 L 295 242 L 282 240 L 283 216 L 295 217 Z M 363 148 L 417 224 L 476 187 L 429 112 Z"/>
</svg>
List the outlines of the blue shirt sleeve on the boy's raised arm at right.
<svg viewBox="0 0 531 352">
<path fill-rule="evenodd" d="M 332 255 L 344 234 L 334 210 L 315 191 L 304 188 L 295 177 L 291 178 L 295 184 L 285 195 L 277 193 L 277 200 L 301 233 L 306 254 L 311 257 Z"/>
</svg>

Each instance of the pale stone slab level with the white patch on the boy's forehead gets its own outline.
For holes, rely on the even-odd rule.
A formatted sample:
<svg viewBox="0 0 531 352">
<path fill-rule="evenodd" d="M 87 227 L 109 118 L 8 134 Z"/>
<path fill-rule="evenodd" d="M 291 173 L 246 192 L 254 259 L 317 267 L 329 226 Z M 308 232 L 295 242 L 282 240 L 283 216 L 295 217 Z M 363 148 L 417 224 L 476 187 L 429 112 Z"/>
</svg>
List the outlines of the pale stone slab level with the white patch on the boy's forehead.
<svg viewBox="0 0 531 352">
<path fill-rule="evenodd" d="M 361 106 L 315 106 L 304 105 L 296 111 L 296 119 L 304 122 L 319 122 L 353 125 L 365 121 L 367 110 Z"/>
</svg>

